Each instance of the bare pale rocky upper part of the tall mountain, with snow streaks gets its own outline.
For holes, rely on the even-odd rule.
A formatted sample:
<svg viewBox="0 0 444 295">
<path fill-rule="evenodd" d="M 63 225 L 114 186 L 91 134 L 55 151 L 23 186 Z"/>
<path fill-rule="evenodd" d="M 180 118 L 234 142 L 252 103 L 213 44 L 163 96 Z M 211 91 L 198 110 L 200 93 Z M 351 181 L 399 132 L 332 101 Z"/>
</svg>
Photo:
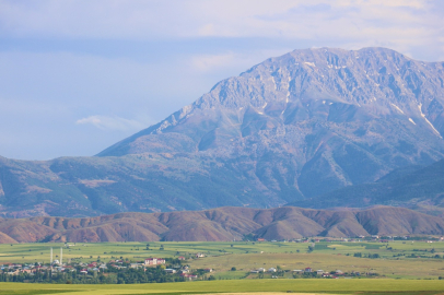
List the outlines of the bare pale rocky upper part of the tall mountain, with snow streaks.
<svg viewBox="0 0 444 295">
<path fill-rule="evenodd" d="M 219 141 L 225 137 L 214 146 L 226 150 L 245 134 L 313 120 L 364 123 L 392 117 L 441 138 L 443 64 L 386 48 L 294 50 L 219 82 L 194 104 L 100 155 L 149 151 L 122 145 L 172 132 L 189 137 L 196 152 L 208 150 L 199 148 L 206 135 Z"/>
</svg>

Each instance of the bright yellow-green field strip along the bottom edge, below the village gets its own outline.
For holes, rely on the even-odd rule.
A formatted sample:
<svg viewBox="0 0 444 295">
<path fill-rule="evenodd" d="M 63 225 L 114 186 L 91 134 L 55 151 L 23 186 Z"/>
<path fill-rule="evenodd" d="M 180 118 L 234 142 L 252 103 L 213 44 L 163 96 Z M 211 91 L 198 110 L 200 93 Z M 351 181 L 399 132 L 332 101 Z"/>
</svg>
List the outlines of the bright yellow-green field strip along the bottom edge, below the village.
<svg viewBox="0 0 444 295">
<path fill-rule="evenodd" d="M 232 280 L 135 285 L 0 283 L 0 294 L 205 294 L 205 293 L 442 294 L 444 281 L 425 280 Z"/>
</svg>

